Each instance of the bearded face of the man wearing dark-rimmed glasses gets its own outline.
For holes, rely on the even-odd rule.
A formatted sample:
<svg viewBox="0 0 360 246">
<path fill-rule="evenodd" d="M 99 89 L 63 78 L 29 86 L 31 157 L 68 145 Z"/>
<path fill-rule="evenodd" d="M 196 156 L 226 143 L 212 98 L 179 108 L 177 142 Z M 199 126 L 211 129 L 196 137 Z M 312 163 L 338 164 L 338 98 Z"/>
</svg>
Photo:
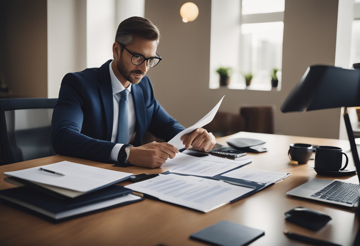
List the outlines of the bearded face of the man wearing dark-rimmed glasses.
<svg viewBox="0 0 360 246">
<path fill-rule="evenodd" d="M 137 36 L 134 36 L 130 45 L 126 45 L 126 48 L 131 51 L 132 54 L 143 55 L 145 57 L 156 56 L 156 41 L 143 40 Z M 116 66 L 121 76 L 132 84 L 137 84 L 147 73 L 149 67 L 147 62 L 144 61 L 140 65 L 134 65 L 131 63 L 132 55 L 125 49 L 122 50 L 120 56 L 116 61 Z"/>
</svg>

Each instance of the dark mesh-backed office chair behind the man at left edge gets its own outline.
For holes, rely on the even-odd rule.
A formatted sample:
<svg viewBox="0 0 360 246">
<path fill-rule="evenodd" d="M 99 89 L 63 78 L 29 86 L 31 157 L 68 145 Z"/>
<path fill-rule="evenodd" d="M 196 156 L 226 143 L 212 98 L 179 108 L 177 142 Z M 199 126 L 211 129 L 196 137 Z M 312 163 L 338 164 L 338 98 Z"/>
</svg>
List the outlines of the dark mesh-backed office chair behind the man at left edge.
<svg viewBox="0 0 360 246">
<path fill-rule="evenodd" d="M 0 100 L 0 165 L 55 155 L 51 117 L 57 99 Z"/>
</svg>

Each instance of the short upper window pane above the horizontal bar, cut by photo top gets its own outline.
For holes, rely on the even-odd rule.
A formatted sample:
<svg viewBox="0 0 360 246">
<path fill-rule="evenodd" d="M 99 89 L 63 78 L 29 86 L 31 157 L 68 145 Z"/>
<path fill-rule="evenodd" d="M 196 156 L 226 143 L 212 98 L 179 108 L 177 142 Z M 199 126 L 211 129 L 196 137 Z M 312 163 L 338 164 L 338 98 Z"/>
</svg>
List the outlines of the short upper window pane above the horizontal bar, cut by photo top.
<svg viewBox="0 0 360 246">
<path fill-rule="evenodd" d="M 241 14 L 283 12 L 285 0 L 242 0 Z"/>
</svg>

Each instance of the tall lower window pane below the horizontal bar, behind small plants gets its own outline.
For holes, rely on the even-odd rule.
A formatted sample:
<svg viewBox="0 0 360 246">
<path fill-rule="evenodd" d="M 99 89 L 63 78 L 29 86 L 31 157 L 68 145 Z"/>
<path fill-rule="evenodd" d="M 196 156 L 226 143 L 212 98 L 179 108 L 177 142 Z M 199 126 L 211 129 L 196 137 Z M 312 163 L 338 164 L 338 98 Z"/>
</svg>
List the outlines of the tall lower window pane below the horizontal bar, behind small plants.
<svg viewBox="0 0 360 246">
<path fill-rule="evenodd" d="M 252 83 L 270 84 L 270 71 L 282 68 L 283 22 L 242 24 L 241 70 L 251 72 Z M 280 78 L 280 73 L 278 73 Z"/>
</svg>

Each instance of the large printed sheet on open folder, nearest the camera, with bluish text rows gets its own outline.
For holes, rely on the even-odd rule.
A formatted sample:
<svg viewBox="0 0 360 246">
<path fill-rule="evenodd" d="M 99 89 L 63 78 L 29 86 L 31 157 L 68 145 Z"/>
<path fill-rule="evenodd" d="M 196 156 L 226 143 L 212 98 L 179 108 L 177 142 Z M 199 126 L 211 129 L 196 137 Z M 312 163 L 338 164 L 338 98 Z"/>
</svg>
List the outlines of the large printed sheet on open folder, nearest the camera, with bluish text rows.
<svg viewBox="0 0 360 246">
<path fill-rule="evenodd" d="M 253 190 L 219 180 L 176 174 L 159 174 L 125 187 L 203 212 L 216 209 Z"/>
</svg>

